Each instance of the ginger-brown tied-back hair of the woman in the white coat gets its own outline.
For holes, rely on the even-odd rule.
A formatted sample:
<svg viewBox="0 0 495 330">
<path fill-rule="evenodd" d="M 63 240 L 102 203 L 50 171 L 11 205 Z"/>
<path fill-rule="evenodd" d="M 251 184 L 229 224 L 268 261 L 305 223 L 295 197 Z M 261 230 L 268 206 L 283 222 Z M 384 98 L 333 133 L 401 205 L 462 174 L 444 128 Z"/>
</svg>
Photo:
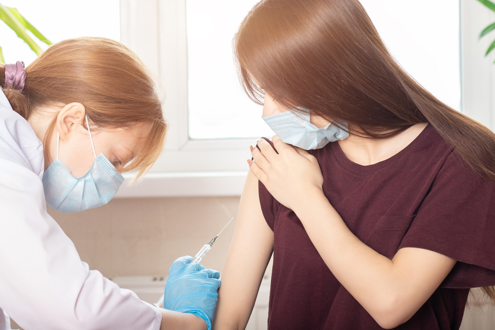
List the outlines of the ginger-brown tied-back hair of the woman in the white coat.
<svg viewBox="0 0 495 330">
<path fill-rule="evenodd" d="M 0 86 L 5 66 L 0 64 Z M 40 106 L 80 102 L 97 128 L 130 128 L 150 122 L 140 153 L 125 171 L 143 175 L 163 149 L 166 122 L 157 84 L 147 67 L 129 48 L 106 38 L 84 37 L 51 45 L 26 68 L 22 92 L 2 86 L 13 110 L 25 119 Z M 55 126 L 53 118 L 43 144 Z M 84 125 L 84 124 L 83 124 Z"/>
</svg>

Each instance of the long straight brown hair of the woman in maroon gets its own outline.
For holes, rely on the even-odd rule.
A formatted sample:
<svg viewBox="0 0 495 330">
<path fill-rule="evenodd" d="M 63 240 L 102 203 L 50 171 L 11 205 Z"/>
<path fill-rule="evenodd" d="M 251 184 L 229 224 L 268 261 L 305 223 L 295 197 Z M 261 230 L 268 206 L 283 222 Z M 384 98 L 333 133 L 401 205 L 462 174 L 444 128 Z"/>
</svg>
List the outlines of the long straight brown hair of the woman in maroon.
<svg viewBox="0 0 495 330">
<path fill-rule="evenodd" d="M 495 181 L 495 134 L 414 81 L 358 0 L 262 0 L 233 46 L 241 84 L 256 103 L 266 91 L 371 139 L 430 123 L 471 169 Z M 484 290 L 495 300 L 493 287 Z"/>
</svg>

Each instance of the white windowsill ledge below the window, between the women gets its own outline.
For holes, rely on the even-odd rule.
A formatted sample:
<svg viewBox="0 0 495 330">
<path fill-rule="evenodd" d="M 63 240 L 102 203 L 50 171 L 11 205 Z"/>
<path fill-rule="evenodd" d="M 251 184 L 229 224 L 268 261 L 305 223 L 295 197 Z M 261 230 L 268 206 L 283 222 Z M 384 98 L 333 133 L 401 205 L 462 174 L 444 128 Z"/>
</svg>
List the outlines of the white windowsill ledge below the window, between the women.
<svg viewBox="0 0 495 330">
<path fill-rule="evenodd" d="M 148 173 L 141 182 L 128 186 L 134 175 L 124 174 L 115 197 L 240 196 L 246 176 L 247 171 Z"/>
</svg>

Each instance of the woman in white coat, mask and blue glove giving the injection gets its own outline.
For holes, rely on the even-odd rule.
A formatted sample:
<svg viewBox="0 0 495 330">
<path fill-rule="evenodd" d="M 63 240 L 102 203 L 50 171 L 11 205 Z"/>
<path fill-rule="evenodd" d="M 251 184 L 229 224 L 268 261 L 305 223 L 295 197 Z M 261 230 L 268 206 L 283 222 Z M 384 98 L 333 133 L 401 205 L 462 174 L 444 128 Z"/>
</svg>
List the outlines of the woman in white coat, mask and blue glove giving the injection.
<svg viewBox="0 0 495 330">
<path fill-rule="evenodd" d="M 210 329 L 218 272 L 176 260 L 167 309 L 81 261 L 47 213 L 106 204 L 142 176 L 166 133 L 161 100 L 131 50 L 104 38 L 54 44 L 26 70 L 0 64 L 0 330 Z M 185 313 L 179 313 L 185 312 Z"/>
</svg>

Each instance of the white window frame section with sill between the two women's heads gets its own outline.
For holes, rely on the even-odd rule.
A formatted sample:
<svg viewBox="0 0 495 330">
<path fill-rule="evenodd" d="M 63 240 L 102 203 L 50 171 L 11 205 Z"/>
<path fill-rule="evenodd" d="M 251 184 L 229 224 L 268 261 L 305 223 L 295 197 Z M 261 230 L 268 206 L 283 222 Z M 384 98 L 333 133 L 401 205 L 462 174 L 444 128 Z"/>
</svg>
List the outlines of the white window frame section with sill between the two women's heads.
<svg viewBox="0 0 495 330">
<path fill-rule="evenodd" d="M 145 60 L 165 88 L 169 129 L 164 152 L 143 182 L 124 184 L 116 196 L 241 195 L 255 139 L 189 138 L 186 1 L 121 0 L 120 15 L 121 41 Z"/>
</svg>

